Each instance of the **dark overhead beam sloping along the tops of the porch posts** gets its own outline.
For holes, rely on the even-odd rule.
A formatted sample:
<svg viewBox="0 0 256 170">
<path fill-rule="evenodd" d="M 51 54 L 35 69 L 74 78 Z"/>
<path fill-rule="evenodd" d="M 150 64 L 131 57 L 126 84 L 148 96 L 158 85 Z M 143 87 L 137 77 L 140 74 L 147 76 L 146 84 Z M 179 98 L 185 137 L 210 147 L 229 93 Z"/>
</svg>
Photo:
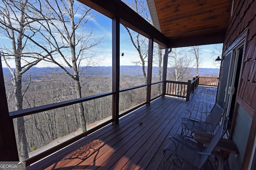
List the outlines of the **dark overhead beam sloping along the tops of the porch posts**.
<svg viewBox="0 0 256 170">
<path fill-rule="evenodd" d="M 118 17 L 120 23 L 133 29 L 156 43 L 167 47 L 168 39 L 142 16 L 120 0 L 78 0 L 109 18 Z"/>
</svg>

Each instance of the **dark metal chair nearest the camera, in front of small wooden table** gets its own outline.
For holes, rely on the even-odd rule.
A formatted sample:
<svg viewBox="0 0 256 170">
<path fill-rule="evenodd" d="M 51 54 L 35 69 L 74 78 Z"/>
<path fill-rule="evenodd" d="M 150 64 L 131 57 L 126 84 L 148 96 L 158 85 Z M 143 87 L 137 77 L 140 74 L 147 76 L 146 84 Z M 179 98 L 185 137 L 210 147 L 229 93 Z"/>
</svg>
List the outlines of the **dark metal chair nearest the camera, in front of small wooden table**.
<svg viewBox="0 0 256 170">
<path fill-rule="evenodd" d="M 208 169 L 208 162 L 210 163 L 208 158 L 226 133 L 227 126 L 228 117 L 226 117 L 225 121 L 206 147 L 190 140 L 190 138 L 184 135 L 176 134 L 174 137 L 168 137 L 170 142 L 163 150 L 163 169 L 170 169 L 172 166 L 180 170 Z M 212 167 L 211 163 L 210 165 Z"/>
</svg>

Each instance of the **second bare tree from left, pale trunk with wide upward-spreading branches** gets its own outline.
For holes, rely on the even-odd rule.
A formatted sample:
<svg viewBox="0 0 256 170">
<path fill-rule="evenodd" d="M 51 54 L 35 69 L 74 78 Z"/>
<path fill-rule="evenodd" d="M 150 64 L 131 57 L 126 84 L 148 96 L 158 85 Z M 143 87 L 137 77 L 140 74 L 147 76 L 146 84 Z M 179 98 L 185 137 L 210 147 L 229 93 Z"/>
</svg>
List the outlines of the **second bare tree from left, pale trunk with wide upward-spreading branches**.
<svg viewBox="0 0 256 170">
<path fill-rule="evenodd" d="M 36 15 L 45 22 L 38 21 L 40 29 L 36 26 L 33 29 L 40 32 L 45 41 L 44 48 L 56 51 L 56 54 L 48 55 L 44 60 L 62 68 L 74 80 L 74 84 L 70 86 L 74 88 L 76 98 L 82 98 L 81 89 L 90 78 L 90 76 L 81 78 L 84 70 L 101 61 L 95 57 L 94 47 L 102 42 L 103 37 L 97 38 L 93 35 L 92 28 L 89 27 L 91 19 L 97 13 L 75 0 L 45 0 L 42 3 L 45 3 L 45 6 L 39 9 Z M 54 16 L 55 20 L 51 20 L 49 16 Z M 84 112 L 83 104 L 79 103 L 78 113 L 83 132 L 86 131 Z"/>
</svg>

